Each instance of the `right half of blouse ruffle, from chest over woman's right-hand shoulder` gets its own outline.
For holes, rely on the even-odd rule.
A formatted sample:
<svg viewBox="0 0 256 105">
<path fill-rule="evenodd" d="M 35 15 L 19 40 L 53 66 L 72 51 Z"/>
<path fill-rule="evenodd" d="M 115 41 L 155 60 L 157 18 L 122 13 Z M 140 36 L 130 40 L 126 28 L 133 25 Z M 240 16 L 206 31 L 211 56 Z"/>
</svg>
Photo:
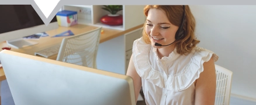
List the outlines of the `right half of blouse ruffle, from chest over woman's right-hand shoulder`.
<svg viewBox="0 0 256 105">
<path fill-rule="evenodd" d="M 203 72 L 203 63 L 209 61 L 211 57 L 214 61 L 219 59 L 212 51 L 196 47 L 191 60 L 186 64 L 185 70 L 182 70 L 184 72 L 169 76 L 165 83 L 167 84 L 166 88 L 175 92 L 187 89 L 199 78 L 200 73 Z"/>
</svg>

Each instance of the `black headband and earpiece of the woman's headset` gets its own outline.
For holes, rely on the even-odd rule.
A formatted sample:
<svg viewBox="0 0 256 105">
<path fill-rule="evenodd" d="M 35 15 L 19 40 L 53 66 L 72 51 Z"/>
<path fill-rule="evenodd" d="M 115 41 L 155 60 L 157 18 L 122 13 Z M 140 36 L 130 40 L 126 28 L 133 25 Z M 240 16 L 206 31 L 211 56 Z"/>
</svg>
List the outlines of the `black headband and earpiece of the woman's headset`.
<svg viewBox="0 0 256 105">
<path fill-rule="evenodd" d="M 186 20 L 186 14 L 185 14 L 185 6 L 183 5 L 183 18 L 181 20 L 181 26 L 179 26 L 176 34 L 175 34 L 175 39 L 178 40 L 182 37 L 184 37 L 184 34 L 185 34 L 185 30 L 183 29 L 183 25 L 184 25 L 184 22 Z"/>
</svg>

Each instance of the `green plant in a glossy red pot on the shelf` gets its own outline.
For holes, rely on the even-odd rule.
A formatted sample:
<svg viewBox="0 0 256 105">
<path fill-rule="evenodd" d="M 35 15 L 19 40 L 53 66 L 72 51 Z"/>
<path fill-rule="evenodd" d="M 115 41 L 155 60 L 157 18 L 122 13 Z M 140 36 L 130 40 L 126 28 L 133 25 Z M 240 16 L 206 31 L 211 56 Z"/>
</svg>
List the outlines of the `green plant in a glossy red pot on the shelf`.
<svg viewBox="0 0 256 105">
<path fill-rule="evenodd" d="M 103 10 L 108 11 L 110 14 L 101 17 L 101 23 L 110 26 L 119 26 L 123 24 L 123 16 L 117 14 L 123 10 L 123 5 L 103 5 Z"/>
</svg>

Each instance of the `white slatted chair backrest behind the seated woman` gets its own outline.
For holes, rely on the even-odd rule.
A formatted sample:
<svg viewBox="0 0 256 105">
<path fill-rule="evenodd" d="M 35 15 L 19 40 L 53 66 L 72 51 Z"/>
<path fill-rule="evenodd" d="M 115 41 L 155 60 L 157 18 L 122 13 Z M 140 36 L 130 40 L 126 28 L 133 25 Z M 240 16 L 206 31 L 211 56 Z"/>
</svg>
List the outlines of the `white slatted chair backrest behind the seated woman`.
<svg viewBox="0 0 256 105">
<path fill-rule="evenodd" d="M 232 71 L 215 64 L 216 70 L 216 95 L 215 105 L 229 105 Z"/>
</svg>

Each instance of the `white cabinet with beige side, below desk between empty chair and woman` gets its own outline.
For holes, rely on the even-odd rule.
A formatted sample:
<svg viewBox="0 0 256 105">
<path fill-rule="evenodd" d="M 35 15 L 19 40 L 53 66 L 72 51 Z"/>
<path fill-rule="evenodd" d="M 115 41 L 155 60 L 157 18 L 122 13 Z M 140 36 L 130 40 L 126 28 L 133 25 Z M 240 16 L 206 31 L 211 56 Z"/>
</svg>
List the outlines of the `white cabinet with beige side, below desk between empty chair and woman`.
<svg viewBox="0 0 256 105">
<path fill-rule="evenodd" d="M 140 38 L 141 28 L 99 44 L 97 68 L 113 73 L 126 74 L 134 40 Z"/>
</svg>

